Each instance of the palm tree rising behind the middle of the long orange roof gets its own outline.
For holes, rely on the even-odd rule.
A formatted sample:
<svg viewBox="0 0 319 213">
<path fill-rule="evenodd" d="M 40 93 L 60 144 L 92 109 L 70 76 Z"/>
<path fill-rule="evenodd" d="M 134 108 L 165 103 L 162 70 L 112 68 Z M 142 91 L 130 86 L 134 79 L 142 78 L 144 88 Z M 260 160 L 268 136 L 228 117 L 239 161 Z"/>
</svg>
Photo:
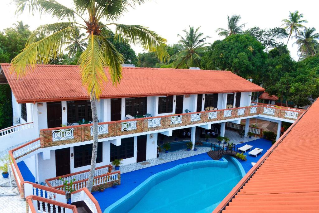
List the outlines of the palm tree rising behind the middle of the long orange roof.
<svg viewBox="0 0 319 213">
<path fill-rule="evenodd" d="M 208 50 L 205 47 L 206 38 L 209 36 L 203 36 L 203 33 L 198 33 L 199 27 L 194 31 L 194 27 L 189 26 L 189 31 L 183 30 L 185 32 L 185 38 L 180 34 L 181 39 L 178 41 L 179 44 L 183 46 L 183 50 L 172 55 L 170 60 L 173 61 L 172 67 L 179 69 L 188 69 L 189 67 L 199 67 L 201 56 Z"/>
</svg>

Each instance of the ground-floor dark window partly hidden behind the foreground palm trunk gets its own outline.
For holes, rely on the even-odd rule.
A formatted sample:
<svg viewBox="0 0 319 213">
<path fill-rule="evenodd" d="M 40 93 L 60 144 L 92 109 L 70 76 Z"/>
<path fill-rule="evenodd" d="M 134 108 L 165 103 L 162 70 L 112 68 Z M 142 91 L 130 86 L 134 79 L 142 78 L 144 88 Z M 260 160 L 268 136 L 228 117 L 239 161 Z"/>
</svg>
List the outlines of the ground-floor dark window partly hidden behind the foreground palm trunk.
<svg viewBox="0 0 319 213">
<path fill-rule="evenodd" d="M 86 144 L 82 146 L 74 147 L 74 168 L 87 166 L 91 164 L 92 158 L 92 144 Z M 98 153 L 96 156 L 96 163 L 102 162 L 103 157 L 102 142 L 98 143 Z"/>
</svg>

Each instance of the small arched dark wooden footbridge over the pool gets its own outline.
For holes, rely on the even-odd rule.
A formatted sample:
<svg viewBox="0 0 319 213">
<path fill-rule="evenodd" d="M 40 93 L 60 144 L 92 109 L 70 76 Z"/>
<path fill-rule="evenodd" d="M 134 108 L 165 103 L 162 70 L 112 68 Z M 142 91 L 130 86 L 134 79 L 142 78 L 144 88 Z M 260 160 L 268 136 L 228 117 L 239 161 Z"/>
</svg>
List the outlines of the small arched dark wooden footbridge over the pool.
<svg viewBox="0 0 319 213">
<path fill-rule="evenodd" d="M 219 160 L 223 155 L 236 156 L 238 153 L 238 148 L 235 147 L 234 143 L 219 144 L 211 143 L 211 151 L 207 152 L 208 156 L 213 160 Z"/>
</svg>

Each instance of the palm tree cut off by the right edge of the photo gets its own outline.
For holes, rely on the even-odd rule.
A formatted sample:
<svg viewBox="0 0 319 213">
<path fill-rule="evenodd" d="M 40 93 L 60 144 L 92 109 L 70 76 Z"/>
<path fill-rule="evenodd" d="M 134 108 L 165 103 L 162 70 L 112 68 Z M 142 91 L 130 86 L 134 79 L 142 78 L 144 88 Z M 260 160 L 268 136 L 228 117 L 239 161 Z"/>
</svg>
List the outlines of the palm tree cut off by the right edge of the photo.
<svg viewBox="0 0 319 213">
<path fill-rule="evenodd" d="M 297 41 L 294 44 L 299 46 L 298 51 L 300 52 L 300 57 L 313 56 L 317 53 L 319 33 L 315 33 L 315 30 L 315 27 L 305 28 L 295 36 Z"/>
</svg>

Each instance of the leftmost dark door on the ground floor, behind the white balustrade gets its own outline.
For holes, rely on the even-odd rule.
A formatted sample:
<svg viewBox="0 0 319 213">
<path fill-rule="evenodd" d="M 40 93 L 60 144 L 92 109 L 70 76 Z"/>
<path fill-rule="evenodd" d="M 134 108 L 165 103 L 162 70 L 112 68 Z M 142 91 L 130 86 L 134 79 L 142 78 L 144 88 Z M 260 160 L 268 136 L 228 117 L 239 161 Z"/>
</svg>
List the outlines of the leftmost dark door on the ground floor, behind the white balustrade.
<svg viewBox="0 0 319 213">
<path fill-rule="evenodd" d="M 70 174 L 70 148 L 56 149 L 56 176 Z"/>
</svg>

